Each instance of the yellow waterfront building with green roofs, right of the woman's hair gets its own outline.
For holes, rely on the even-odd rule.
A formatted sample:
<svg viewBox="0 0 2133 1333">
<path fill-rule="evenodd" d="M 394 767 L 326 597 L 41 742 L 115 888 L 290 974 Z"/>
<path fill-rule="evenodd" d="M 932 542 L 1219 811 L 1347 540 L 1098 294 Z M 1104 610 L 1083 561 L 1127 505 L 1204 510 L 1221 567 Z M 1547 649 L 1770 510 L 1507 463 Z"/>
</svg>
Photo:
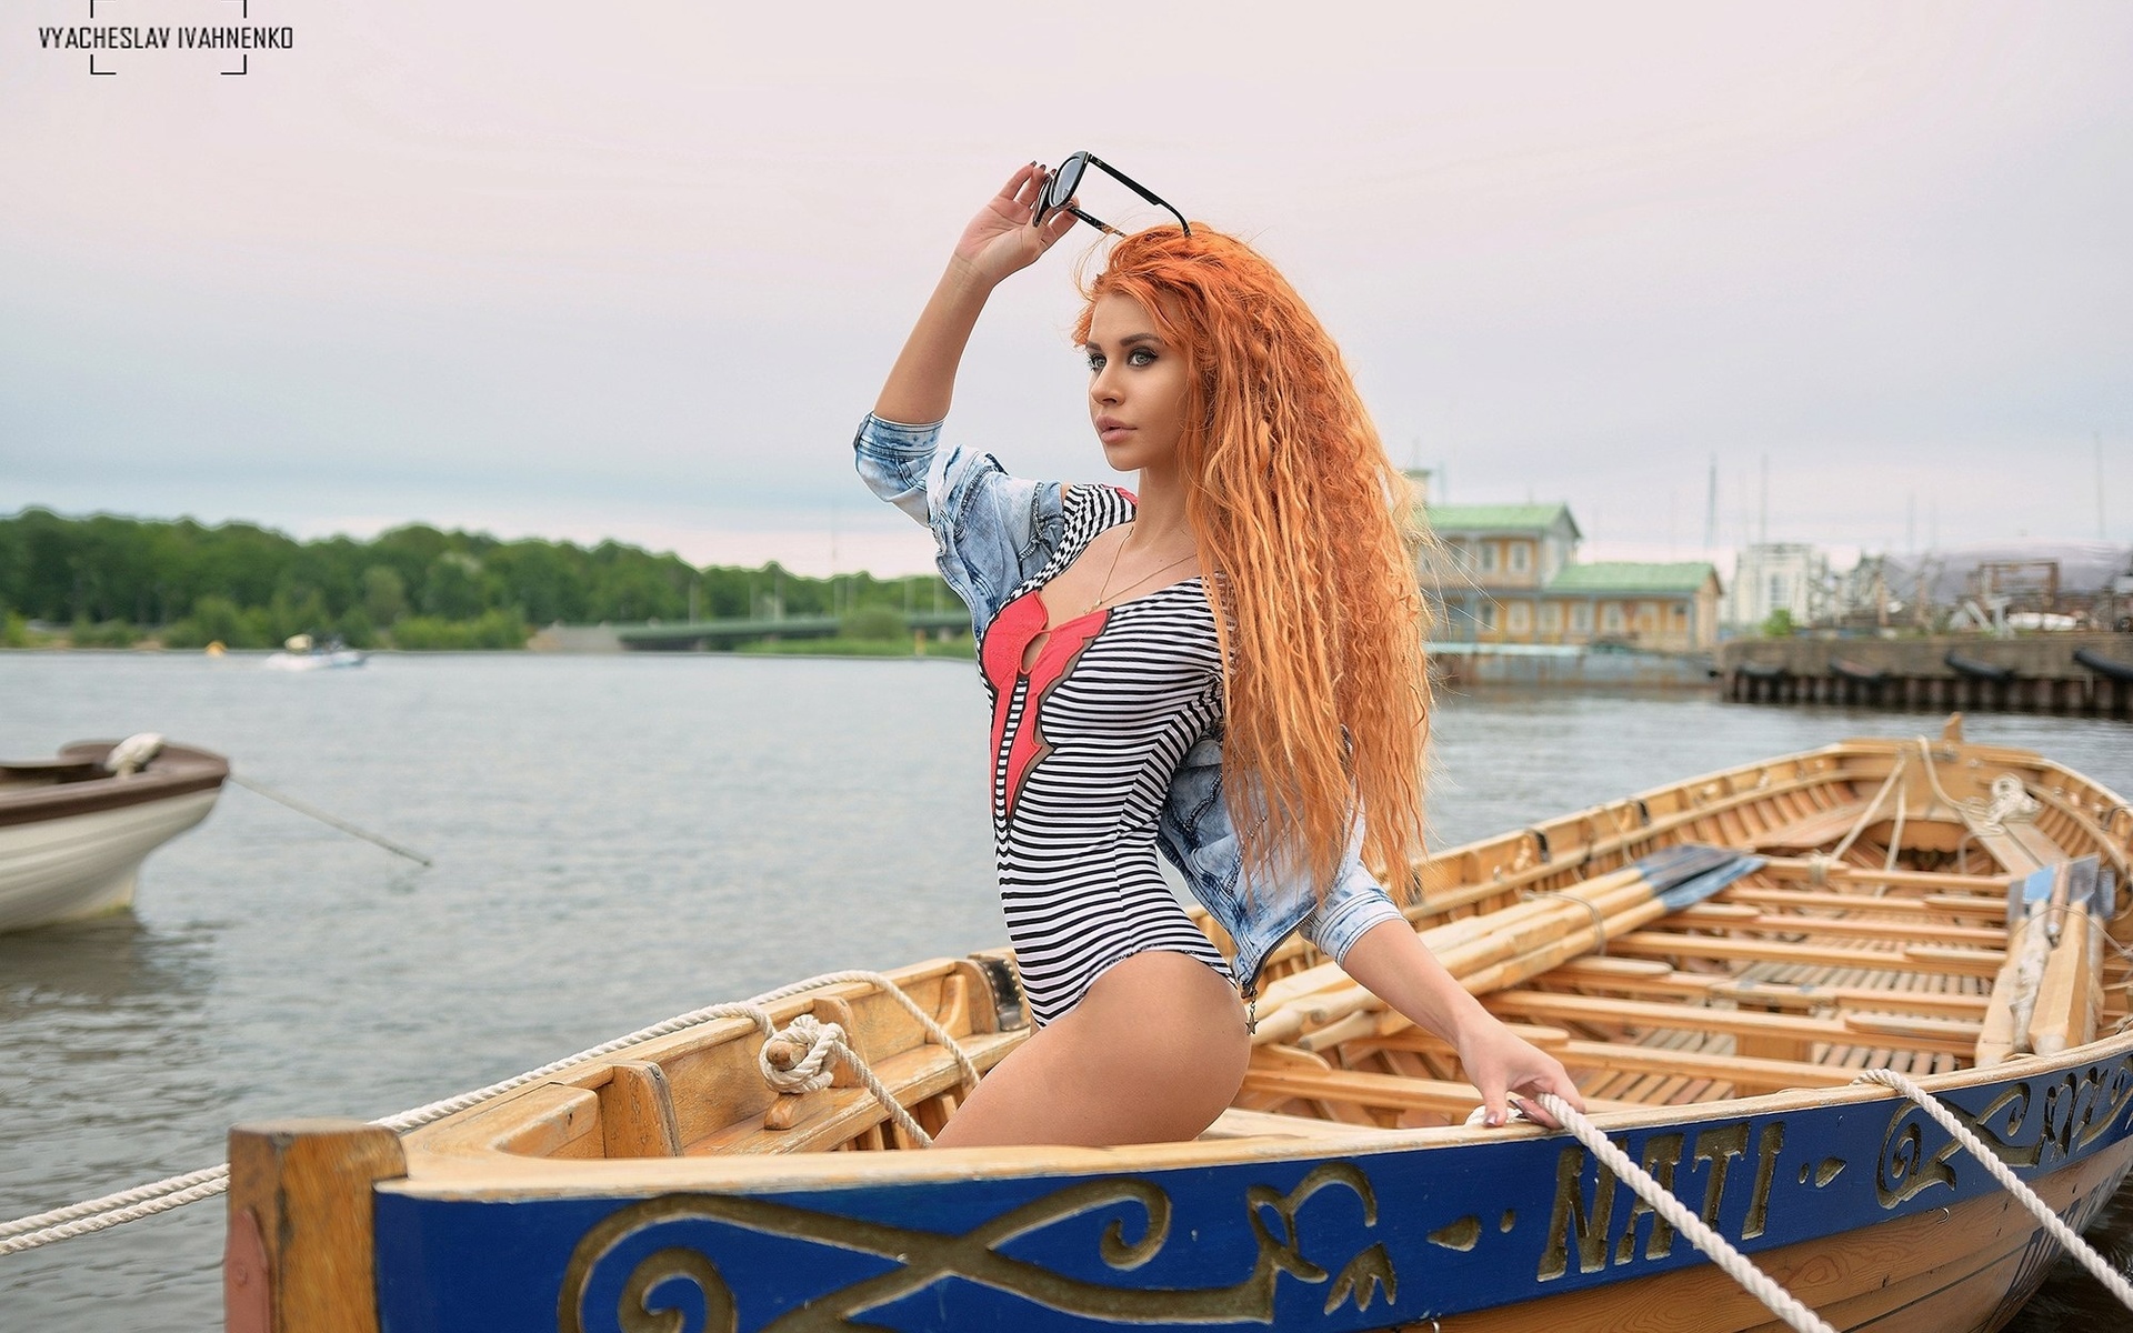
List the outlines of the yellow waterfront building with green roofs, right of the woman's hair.
<svg viewBox="0 0 2133 1333">
<path fill-rule="evenodd" d="M 1427 505 L 1444 552 L 1425 572 L 1436 638 L 1493 644 L 1619 644 L 1691 653 L 1717 644 L 1719 576 L 1706 561 L 1576 559 L 1570 505 Z"/>
</svg>

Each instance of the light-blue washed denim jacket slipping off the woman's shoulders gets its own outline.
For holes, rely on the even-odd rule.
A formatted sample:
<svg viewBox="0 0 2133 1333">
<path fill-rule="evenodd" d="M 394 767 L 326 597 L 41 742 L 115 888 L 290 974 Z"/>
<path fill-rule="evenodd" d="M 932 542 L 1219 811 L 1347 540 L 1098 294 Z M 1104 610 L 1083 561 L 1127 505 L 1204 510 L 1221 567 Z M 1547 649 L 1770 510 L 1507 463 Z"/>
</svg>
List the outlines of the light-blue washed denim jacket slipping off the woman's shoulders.
<svg viewBox="0 0 2133 1333">
<path fill-rule="evenodd" d="M 1062 493 L 1058 482 L 1007 476 L 992 454 L 939 441 L 941 422 L 904 427 L 868 416 L 851 444 L 875 495 L 932 529 L 941 576 L 971 608 L 971 629 L 983 640 L 1015 589 L 1058 548 Z M 1246 894 L 1237 830 L 1222 800 L 1220 732 L 1186 751 L 1171 776 L 1156 842 L 1235 941 L 1231 966 L 1246 996 L 1256 994 L 1258 966 L 1290 930 L 1301 928 L 1303 938 L 1337 960 L 1378 921 L 1401 919 L 1363 868 L 1361 828 L 1322 900 L 1305 881 L 1256 883 Z"/>
</svg>

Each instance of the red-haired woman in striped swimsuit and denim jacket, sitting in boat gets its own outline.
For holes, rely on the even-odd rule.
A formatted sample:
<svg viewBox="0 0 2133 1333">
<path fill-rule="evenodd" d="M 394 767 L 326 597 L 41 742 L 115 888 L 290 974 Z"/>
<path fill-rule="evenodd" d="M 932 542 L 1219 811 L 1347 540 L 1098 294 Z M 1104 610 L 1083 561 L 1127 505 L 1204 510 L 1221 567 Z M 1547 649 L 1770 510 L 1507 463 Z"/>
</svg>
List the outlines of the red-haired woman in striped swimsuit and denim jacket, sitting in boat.
<svg viewBox="0 0 2133 1333">
<path fill-rule="evenodd" d="M 855 441 L 971 604 L 1039 1024 L 936 1143 L 1199 1135 L 1244 1081 L 1258 964 L 1295 928 L 1457 1047 L 1489 1124 L 1514 1101 L 1553 1124 L 1514 1094 L 1581 1105 L 1561 1064 L 1465 994 L 1363 868 L 1421 851 L 1425 612 L 1406 482 L 1280 273 L 1182 218 L 1113 245 L 1075 341 L 1105 463 L 1135 491 L 936 446 L 988 294 L 1084 218 L 1058 192 L 1045 207 L 1047 179 L 1020 168 L 964 230 Z M 1158 849 L 1235 960 L 1171 898 Z"/>
</svg>

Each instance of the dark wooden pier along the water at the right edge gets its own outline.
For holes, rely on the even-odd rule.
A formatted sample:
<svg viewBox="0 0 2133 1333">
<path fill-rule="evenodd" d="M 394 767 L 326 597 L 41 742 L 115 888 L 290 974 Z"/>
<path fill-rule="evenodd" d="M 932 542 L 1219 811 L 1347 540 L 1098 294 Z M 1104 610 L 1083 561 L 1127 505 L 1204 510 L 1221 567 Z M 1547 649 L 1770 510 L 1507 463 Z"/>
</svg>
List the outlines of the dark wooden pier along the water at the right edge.
<svg viewBox="0 0 2133 1333">
<path fill-rule="evenodd" d="M 2133 633 L 1736 640 L 1719 678 L 1738 704 L 2133 719 Z"/>
</svg>

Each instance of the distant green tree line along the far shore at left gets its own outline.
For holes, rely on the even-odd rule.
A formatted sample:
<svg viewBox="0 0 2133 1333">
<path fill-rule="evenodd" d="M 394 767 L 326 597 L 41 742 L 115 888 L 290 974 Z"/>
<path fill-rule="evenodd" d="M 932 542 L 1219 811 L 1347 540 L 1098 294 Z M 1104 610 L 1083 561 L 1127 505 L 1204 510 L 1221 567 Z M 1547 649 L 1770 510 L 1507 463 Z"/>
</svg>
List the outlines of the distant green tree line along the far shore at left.
<svg viewBox="0 0 2133 1333">
<path fill-rule="evenodd" d="M 802 578 L 776 563 L 697 569 L 621 542 L 501 542 L 410 525 L 369 542 L 296 542 L 250 523 L 0 518 L 0 633 L 64 627 L 77 646 L 222 642 L 292 633 L 350 646 L 520 648 L 529 627 L 732 616 L 857 616 L 879 631 L 913 610 L 953 610 L 934 576 Z"/>
</svg>

